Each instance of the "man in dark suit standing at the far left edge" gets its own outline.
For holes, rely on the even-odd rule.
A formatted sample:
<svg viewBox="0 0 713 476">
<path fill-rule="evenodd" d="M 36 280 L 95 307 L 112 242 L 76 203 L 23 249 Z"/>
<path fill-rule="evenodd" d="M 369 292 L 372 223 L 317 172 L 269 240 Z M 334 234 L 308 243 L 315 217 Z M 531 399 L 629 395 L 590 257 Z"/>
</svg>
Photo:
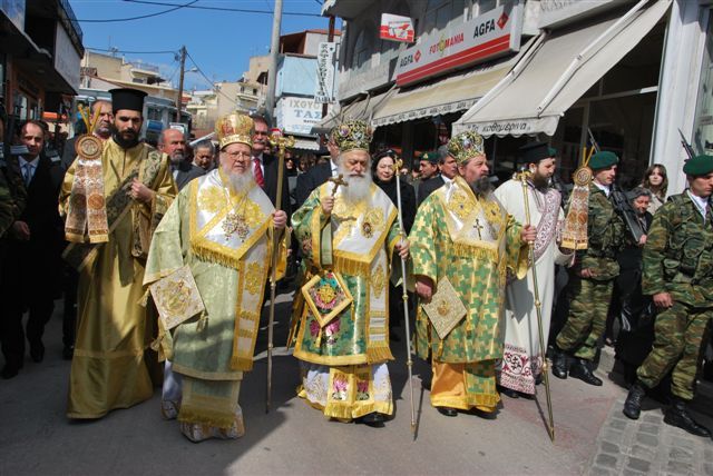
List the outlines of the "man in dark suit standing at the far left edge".
<svg viewBox="0 0 713 476">
<path fill-rule="evenodd" d="M 37 121 L 22 126 L 21 143 L 28 153 L 12 157 L 22 173 L 27 204 L 7 236 L 7 255 L 2 267 L 0 341 L 6 365 L 2 378 L 18 375 L 25 360 L 25 338 L 30 344 L 30 357 L 36 363 L 45 358 L 42 334 L 55 309 L 55 298 L 61 281 L 62 222 L 57 197 L 64 170 L 41 153 L 46 132 Z M 26 331 L 22 315 L 29 310 Z M 26 334 L 27 333 L 27 334 Z"/>
</svg>

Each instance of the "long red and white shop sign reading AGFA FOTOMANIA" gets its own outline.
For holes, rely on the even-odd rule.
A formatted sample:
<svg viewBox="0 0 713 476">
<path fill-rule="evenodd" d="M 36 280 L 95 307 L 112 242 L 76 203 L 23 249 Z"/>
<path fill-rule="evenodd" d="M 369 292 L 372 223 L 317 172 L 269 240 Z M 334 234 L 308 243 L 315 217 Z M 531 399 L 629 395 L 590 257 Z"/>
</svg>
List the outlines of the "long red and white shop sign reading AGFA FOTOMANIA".
<svg viewBox="0 0 713 476">
<path fill-rule="evenodd" d="M 505 4 L 465 23 L 433 31 L 402 51 L 394 71 L 398 86 L 484 62 L 520 49 L 522 7 Z"/>
</svg>

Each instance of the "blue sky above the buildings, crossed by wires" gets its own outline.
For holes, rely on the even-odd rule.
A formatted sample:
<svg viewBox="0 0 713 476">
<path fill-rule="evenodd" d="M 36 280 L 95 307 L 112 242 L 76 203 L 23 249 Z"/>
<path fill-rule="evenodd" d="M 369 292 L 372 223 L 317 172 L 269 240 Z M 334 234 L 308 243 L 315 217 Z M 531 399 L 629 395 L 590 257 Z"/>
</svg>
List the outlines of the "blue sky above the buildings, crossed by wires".
<svg viewBox="0 0 713 476">
<path fill-rule="evenodd" d="M 209 89 L 212 82 L 216 81 L 234 81 L 247 71 L 250 57 L 270 52 L 274 0 L 69 0 L 69 3 L 84 32 L 85 48 L 116 48 L 119 50 L 116 54 L 124 56 L 127 60 L 140 59 L 159 67 L 164 78 L 176 87 L 179 77 L 177 53 L 185 46 L 189 56 L 186 59 L 186 70 L 197 67 L 205 75 L 204 77 L 198 71 L 187 72 L 187 90 Z M 173 4 L 186 3 L 195 8 L 166 12 L 176 8 Z M 283 0 L 282 34 L 306 29 L 326 29 L 329 20 L 320 17 L 321 3 L 322 0 Z M 261 10 L 270 13 L 203 8 Z M 291 12 L 302 16 L 287 14 Z M 155 16 L 128 20 L 150 14 Z M 137 53 L 130 53 L 134 51 Z"/>
</svg>

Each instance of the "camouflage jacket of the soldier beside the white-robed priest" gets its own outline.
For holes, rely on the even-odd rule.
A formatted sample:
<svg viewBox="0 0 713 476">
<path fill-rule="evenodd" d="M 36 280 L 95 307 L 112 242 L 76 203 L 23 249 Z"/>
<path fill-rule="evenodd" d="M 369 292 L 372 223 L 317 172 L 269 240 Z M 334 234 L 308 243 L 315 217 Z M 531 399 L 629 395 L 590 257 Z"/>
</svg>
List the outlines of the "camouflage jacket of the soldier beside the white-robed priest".
<svg viewBox="0 0 713 476">
<path fill-rule="evenodd" d="M 624 246 L 624 221 L 604 191 L 594 184 L 589 185 L 588 216 L 588 246 L 577 251 L 575 266 L 592 269 L 596 274 L 593 279 L 614 279 L 619 274 L 616 255 Z"/>
</svg>

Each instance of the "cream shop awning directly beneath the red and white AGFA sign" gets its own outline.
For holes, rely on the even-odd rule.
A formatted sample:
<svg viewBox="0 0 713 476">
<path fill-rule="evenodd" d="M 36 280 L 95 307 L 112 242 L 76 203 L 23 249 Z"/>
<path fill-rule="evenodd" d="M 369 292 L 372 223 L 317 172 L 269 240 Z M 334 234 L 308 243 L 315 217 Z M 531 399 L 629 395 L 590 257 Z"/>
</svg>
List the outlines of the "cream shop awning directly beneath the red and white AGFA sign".
<svg viewBox="0 0 713 476">
<path fill-rule="evenodd" d="M 522 44 L 520 52 L 510 58 L 439 79 L 426 86 L 400 90 L 374 113 L 371 120 L 372 126 L 388 126 L 469 109 L 505 78 L 533 41 Z"/>
</svg>

